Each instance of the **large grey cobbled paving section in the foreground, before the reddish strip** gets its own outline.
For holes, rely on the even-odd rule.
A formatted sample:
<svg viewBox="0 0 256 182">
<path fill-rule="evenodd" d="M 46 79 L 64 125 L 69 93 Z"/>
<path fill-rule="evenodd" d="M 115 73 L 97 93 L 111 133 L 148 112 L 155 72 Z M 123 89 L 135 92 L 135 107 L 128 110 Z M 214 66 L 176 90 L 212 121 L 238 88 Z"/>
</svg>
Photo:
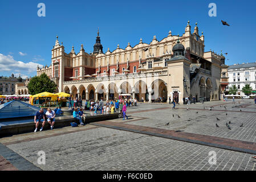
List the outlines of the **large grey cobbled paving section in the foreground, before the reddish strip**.
<svg viewBox="0 0 256 182">
<path fill-rule="evenodd" d="M 46 139 L 11 144 L 43 170 L 256 170 L 250 154 L 172 139 L 99 127 Z M 38 151 L 46 164 L 38 165 Z M 209 152 L 217 154 L 209 164 Z"/>
</svg>

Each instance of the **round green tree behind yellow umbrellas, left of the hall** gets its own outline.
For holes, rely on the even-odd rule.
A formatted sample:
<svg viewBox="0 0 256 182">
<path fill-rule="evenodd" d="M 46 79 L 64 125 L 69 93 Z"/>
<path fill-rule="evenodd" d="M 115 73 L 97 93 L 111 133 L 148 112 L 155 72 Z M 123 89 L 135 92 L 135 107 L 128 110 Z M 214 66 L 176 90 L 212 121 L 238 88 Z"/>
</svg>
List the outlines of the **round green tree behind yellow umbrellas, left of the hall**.
<svg viewBox="0 0 256 182">
<path fill-rule="evenodd" d="M 27 88 L 29 88 L 30 94 L 34 95 L 42 92 L 54 93 L 57 85 L 55 82 L 51 81 L 45 73 L 43 73 L 40 76 L 32 77 Z"/>
</svg>

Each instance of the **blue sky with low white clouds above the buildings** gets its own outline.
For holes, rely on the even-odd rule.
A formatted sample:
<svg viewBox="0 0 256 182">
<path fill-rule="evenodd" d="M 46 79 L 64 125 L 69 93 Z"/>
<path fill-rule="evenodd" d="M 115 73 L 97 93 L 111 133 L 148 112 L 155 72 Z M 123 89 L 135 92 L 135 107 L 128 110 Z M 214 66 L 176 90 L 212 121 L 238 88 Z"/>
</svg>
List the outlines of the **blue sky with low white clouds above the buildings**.
<svg viewBox="0 0 256 182">
<path fill-rule="evenodd" d="M 210 17 L 209 3 L 216 3 L 217 17 Z M 46 5 L 39 17 L 38 3 Z M 205 51 L 227 52 L 226 64 L 255 62 L 256 1 L 0 1 L 0 76 L 11 73 L 35 76 L 36 65 L 51 63 L 56 35 L 66 52 L 84 45 L 93 51 L 100 28 L 103 51 L 113 51 L 168 35 L 182 35 L 190 20 L 205 35 Z M 226 20 L 230 27 L 222 26 Z"/>
</svg>

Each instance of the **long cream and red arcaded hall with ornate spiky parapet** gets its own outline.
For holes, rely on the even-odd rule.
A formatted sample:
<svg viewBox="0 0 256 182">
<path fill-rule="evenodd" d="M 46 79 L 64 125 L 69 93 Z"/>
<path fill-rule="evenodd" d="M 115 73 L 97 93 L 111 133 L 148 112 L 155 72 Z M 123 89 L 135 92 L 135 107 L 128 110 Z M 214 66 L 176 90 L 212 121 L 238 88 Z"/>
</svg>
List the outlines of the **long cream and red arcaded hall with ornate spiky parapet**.
<svg viewBox="0 0 256 182">
<path fill-rule="evenodd" d="M 220 100 L 221 69 L 225 57 L 213 51 L 205 52 L 205 40 L 196 27 L 185 27 L 180 35 L 169 34 L 162 40 L 153 36 L 151 43 L 142 39 L 134 47 L 103 52 L 99 30 L 94 51 L 87 53 L 83 44 L 75 53 L 64 51 L 58 36 L 52 48 L 51 65 L 37 69 L 37 76 L 46 73 L 58 85 L 57 92 L 71 93 L 83 100 L 109 100 L 120 94 L 149 102 L 162 98 L 182 101 L 195 96 L 197 100 Z"/>
</svg>

